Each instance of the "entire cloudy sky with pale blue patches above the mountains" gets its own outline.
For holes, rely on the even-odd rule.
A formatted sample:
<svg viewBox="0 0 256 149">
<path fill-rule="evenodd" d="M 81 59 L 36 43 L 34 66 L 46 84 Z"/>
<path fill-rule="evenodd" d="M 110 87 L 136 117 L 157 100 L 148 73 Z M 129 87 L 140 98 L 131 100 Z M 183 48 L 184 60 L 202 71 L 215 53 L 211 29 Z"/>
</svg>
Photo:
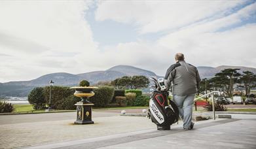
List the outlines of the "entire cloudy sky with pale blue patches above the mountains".
<svg viewBox="0 0 256 149">
<path fill-rule="evenodd" d="M 0 82 L 132 65 L 256 67 L 256 1 L 0 1 Z"/>
</svg>

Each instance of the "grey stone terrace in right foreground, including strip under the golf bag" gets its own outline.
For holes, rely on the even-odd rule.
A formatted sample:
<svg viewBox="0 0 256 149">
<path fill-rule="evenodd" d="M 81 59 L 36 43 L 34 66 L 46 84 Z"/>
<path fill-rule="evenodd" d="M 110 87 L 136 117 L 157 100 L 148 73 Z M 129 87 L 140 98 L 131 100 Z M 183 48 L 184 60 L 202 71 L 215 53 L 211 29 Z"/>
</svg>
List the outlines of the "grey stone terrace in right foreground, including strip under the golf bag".
<svg viewBox="0 0 256 149">
<path fill-rule="evenodd" d="M 30 148 L 256 148 L 256 120 L 208 120 L 184 131 L 175 125 L 170 131 L 147 129 L 132 133 L 32 146 Z M 234 131 L 235 130 L 235 131 Z"/>
</svg>

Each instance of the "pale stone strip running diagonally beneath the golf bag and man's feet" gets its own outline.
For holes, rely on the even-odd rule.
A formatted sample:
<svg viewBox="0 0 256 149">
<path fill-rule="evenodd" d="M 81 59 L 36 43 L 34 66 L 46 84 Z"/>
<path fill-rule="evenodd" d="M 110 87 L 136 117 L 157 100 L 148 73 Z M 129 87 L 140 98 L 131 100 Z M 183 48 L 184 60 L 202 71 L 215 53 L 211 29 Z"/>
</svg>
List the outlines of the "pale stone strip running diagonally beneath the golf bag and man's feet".
<svg viewBox="0 0 256 149">
<path fill-rule="evenodd" d="M 209 127 L 211 125 L 219 125 L 219 124 L 225 124 L 228 122 L 234 122 L 236 120 L 232 119 L 225 119 L 225 120 L 207 120 L 202 122 L 196 122 L 195 129 L 203 128 L 203 127 Z M 58 142 L 58 143 L 52 143 L 52 144 L 45 144 L 41 146 L 31 146 L 31 148 L 86 148 L 86 149 L 92 149 L 92 148 L 100 148 L 103 146 L 113 146 L 115 144 L 122 144 L 126 142 L 133 142 L 133 141 L 140 141 L 144 139 L 151 139 L 161 136 L 166 136 L 170 134 L 176 134 L 176 133 L 182 133 L 183 127 L 182 124 L 179 125 L 172 125 L 172 129 L 170 131 L 157 131 L 156 127 L 155 129 L 147 129 L 144 131 L 135 131 L 132 133 L 122 133 L 122 134 L 116 134 L 116 135 L 107 135 L 103 137 L 95 137 L 92 139 L 81 139 L 77 141 L 69 141 L 69 142 Z M 152 142 L 148 142 L 151 144 Z M 137 146 L 134 146 L 134 148 L 137 148 Z"/>
</svg>

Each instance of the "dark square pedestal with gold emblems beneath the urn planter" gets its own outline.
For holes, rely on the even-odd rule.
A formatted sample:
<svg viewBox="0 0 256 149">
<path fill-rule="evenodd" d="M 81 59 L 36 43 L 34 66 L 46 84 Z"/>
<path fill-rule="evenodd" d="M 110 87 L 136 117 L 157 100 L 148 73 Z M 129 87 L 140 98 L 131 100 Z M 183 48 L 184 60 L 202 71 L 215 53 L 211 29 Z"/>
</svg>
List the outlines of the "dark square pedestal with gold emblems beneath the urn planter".
<svg viewBox="0 0 256 149">
<path fill-rule="evenodd" d="M 77 120 L 75 124 L 94 124 L 92 121 L 92 106 L 93 103 L 78 102 L 77 106 Z"/>
</svg>

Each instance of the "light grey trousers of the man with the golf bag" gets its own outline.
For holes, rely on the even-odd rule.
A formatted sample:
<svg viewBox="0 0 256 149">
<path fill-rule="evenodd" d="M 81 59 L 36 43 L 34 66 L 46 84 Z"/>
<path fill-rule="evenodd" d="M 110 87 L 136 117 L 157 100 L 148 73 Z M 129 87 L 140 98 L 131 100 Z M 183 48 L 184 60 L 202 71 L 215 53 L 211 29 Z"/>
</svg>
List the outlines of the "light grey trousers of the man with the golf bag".
<svg viewBox="0 0 256 149">
<path fill-rule="evenodd" d="M 179 116 L 183 120 L 183 127 L 187 129 L 191 126 L 194 95 L 174 95 L 174 103 L 179 108 Z"/>
</svg>

